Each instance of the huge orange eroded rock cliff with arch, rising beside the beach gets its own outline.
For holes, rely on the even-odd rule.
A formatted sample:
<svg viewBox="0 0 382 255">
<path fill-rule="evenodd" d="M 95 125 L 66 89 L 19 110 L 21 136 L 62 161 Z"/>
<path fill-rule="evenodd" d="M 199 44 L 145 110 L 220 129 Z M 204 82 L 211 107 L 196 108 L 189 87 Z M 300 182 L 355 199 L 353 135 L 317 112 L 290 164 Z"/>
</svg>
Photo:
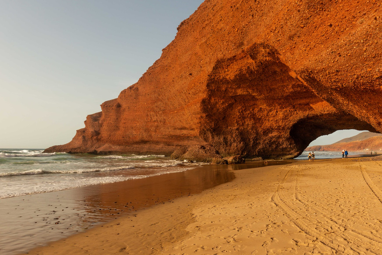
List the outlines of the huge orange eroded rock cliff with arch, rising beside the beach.
<svg viewBox="0 0 382 255">
<path fill-rule="evenodd" d="M 381 132 L 381 21 L 373 0 L 206 0 L 136 84 L 46 151 L 291 158 L 338 129 Z"/>
</svg>

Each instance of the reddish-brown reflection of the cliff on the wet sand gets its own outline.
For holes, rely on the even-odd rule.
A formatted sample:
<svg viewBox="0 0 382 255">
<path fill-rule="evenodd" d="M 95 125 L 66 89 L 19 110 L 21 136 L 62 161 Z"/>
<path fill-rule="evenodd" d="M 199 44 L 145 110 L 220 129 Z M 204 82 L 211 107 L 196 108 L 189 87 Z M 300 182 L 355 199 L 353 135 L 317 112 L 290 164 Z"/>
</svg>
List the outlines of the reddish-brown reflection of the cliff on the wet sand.
<svg viewBox="0 0 382 255">
<path fill-rule="evenodd" d="M 89 215 L 108 219 L 120 214 L 170 202 L 173 199 L 200 193 L 219 184 L 233 180 L 234 174 L 221 166 L 203 166 L 186 172 L 165 174 L 154 178 L 99 185 L 97 189 L 86 187 L 78 190 Z M 99 221 L 100 219 L 98 219 Z"/>
</svg>

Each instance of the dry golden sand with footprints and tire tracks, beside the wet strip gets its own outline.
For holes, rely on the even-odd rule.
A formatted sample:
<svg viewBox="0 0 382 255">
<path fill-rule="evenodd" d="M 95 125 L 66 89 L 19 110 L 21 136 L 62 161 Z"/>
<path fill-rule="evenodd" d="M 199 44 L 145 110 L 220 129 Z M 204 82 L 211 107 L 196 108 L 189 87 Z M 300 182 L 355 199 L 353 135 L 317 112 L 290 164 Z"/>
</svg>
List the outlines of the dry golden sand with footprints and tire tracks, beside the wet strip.
<svg viewBox="0 0 382 255">
<path fill-rule="evenodd" d="M 30 251 L 77 254 L 382 254 L 382 161 L 295 162 Z"/>
</svg>

